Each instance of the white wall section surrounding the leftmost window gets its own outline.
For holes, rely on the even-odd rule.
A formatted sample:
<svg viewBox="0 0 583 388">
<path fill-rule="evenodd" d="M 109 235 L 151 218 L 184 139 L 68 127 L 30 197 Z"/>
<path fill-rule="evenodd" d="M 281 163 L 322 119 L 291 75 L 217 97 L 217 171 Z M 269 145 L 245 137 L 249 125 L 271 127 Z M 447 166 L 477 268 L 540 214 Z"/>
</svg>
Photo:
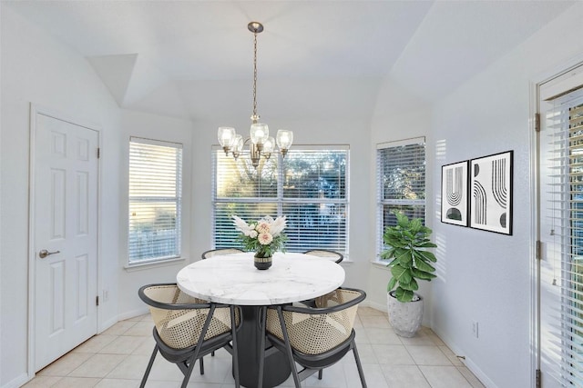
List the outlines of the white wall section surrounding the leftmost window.
<svg viewBox="0 0 583 388">
<path fill-rule="evenodd" d="M 148 139 L 163 140 L 182 144 L 182 256 L 183 260 L 161 265 L 148 265 L 137 268 L 126 268 L 128 265 L 128 152 L 129 137 L 138 136 Z M 119 169 L 119 204 L 118 225 L 120 244 L 118 246 L 118 265 L 115 272 L 119 277 L 119 289 L 112 295 L 118 295 L 118 319 L 146 313 L 148 306 L 138 298 L 138 288 L 145 284 L 176 282 L 176 274 L 180 268 L 189 264 L 191 259 L 199 259 L 200 254 L 192 256 L 190 249 L 190 218 L 192 216 L 191 189 L 193 175 L 191 172 L 191 142 L 193 138 L 192 123 L 155 114 L 123 111 L 121 115 L 121 142 L 119 153 L 122 155 Z"/>
</svg>

